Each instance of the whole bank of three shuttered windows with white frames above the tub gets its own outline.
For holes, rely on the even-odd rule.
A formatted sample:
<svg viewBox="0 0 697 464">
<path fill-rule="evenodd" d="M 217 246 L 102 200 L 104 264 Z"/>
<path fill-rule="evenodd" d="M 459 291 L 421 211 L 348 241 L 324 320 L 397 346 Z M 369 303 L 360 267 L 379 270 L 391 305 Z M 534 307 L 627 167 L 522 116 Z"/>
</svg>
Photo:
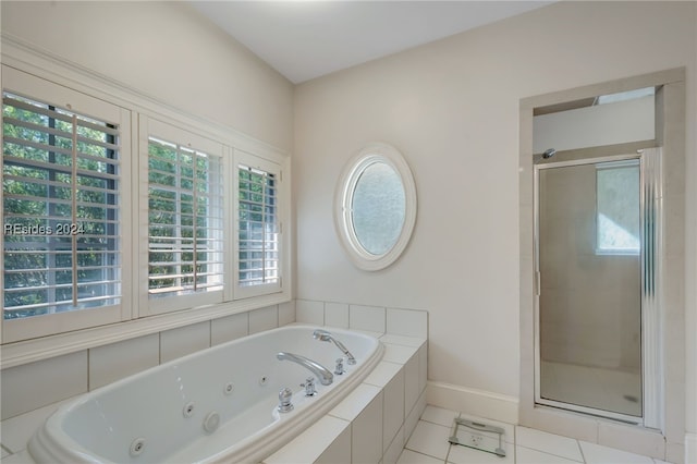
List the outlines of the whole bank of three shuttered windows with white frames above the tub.
<svg viewBox="0 0 697 464">
<path fill-rule="evenodd" d="M 58 61 L 63 74 L 26 72 L 12 50 L 0 64 L 8 367 L 290 301 L 285 154 Z"/>
</svg>

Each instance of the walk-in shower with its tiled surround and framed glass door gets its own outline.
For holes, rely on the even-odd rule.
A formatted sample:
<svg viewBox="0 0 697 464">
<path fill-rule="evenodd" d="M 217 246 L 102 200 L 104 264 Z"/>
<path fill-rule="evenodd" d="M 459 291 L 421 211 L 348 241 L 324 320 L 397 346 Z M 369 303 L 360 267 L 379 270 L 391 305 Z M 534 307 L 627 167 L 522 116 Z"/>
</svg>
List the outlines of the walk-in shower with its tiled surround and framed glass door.
<svg viewBox="0 0 697 464">
<path fill-rule="evenodd" d="M 521 425 L 680 461 L 685 101 L 684 69 L 521 100 Z"/>
</svg>

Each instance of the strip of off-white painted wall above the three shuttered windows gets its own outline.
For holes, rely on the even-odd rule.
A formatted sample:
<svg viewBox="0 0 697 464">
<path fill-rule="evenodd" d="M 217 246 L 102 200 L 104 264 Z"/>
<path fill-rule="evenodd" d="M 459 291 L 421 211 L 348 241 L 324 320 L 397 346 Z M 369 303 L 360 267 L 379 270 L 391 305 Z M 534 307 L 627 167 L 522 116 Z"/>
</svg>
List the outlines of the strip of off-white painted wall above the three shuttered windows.
<svg viewBox="0 0 697 464">
<path fill-rule="evenodd" d="M 185 2 L 2 1 L 2 33 L 289 151 L 293 86 Z"/>
</svg>

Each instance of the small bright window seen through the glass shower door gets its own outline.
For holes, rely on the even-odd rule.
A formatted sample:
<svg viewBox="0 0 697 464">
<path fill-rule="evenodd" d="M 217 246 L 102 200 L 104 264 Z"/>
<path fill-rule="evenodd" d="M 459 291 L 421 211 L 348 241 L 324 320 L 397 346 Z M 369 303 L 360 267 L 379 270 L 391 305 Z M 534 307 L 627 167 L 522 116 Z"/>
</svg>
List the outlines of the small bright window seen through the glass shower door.
<svg viewBox="0 0 697 464">
<path fill-rule="evenodd" d="M 639 162 L 596 166 L 598 255 L 638 255 Z"/>
</svg>

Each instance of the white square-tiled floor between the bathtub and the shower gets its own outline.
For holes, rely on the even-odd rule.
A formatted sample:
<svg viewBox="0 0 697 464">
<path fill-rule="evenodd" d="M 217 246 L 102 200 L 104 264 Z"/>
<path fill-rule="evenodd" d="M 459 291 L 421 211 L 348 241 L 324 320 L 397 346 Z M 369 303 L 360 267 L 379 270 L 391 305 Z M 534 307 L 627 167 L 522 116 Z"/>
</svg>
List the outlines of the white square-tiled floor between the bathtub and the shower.
<svg viewBox="0 0 697 464">
<path fill-rule="evenodd" d="M 455 417 L 478 419 L 505 430 L 505 457 L 458 444 L 450 444 Z M 664 461 L 627 453 L 595 443 L 547 434 L 527 427 L 513 426 L 472 417 L 454 411 L 427 406 L 409 437 L 398 464 L 663 464 Z"/>
</svg>

